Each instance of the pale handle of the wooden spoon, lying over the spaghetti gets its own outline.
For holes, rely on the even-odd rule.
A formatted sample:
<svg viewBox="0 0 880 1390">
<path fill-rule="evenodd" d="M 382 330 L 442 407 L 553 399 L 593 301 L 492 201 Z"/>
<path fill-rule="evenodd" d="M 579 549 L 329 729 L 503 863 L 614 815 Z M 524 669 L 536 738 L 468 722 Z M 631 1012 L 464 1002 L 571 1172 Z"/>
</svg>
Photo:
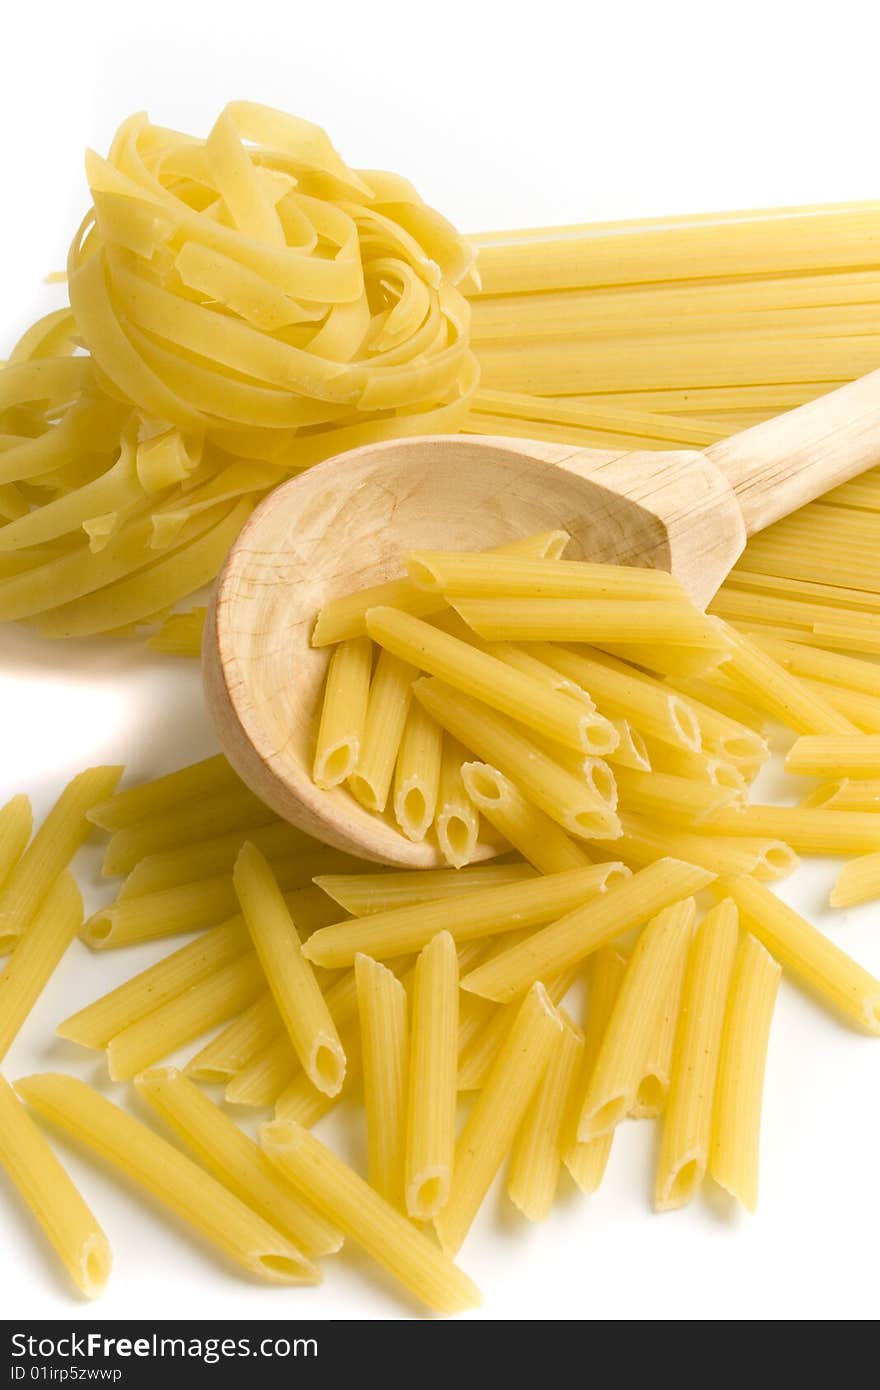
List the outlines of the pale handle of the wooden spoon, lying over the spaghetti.
<svg viewBox="0 0 880 1390">
<path fill-rule="evenodd" d="M 755 535 L 880 463 L 880 371 L 703 452 L 727 477 Z"/>
</svg>

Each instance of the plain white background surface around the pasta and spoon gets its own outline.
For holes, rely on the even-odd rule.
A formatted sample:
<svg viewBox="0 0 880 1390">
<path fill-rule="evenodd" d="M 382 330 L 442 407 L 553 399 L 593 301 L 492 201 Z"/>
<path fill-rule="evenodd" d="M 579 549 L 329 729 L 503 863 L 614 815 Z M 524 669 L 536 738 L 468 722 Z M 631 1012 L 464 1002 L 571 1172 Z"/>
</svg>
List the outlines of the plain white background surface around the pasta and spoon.
<svg viewBox="0 0 880 1390">
<path fill-rule="evenodd" d="M 873 11 L 873 17 L 872 15 Z M 349 163 L 410 175 L 463 229 L 880 196 L 877 11 L 867 4 L 439 6 L 335 0 L 15 4 L 0 83 L 0 353 L 40 310 L 86 207 L 82 150 L 149 108 L 203 133 L 231 97 L 324 124 Z M 44 810 L 81 767 L 156 774 L 209 752 L 195 663 L 125 644 L 0 630 L 0 780 Z M 96 852 L 81 878 L 97 902 Z M 879 913 L 822 915 L 831 865 L 784 885 L 880 973 Z M 106 888 L 103 890 L 106 894 Z M 56 1023 L 163 954 L 76 944 L 7 1059 L 104 1086 Z M 783 986 L 770 1048 L 760 1208 L 655 1216 L 655 1126 L 623 1127 L 601 1193 L 528 1229 L 491 1200 L 462 1262 L 491 1319 L 851 1319 L 877 1314 L 880 1044 Z M 331 1130 L 331 1134 L 334 1131 Z M 355 1145 L 360 1143 L 353 1137 Z M 320 1290 L 238 1280 L 81 1156 L 114 1250 L 103 1318 L 407 1318 L 361 1259 Z M 7 1318 L 86 1312 L 0 1183 Z"/>
</svg>

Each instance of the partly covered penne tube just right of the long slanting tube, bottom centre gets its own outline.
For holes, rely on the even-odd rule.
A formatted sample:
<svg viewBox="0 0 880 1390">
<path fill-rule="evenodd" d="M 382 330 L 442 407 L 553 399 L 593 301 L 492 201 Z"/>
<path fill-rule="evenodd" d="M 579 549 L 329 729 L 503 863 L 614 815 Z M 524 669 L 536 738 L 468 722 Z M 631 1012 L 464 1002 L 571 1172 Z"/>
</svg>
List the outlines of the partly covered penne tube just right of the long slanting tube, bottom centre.
<svg viewBox="0 0 880 1390">
<path fill-rule="evenodd" d="M 532 1095 L 510 1155 L 507 1197 L 527 1220 L 546 1220 L 556 1197 L 564 1152 L 564 1122 L 580 1076 L 584 1036 L 564 1009 L 544 1080 Z"/>
</svg>

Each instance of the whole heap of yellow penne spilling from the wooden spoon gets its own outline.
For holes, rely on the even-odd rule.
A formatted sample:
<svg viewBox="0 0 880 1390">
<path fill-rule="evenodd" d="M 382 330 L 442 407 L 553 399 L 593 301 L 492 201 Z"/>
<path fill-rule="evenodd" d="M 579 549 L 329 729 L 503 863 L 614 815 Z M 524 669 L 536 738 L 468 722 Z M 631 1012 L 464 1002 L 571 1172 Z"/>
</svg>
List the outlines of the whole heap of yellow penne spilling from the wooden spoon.
<svg viewBox="0 0 880 1390">
<path fill-rule="evenodd" d="M 252 1276 L 316 1283 L 348 1237 L 455 1312 L 480 1297 L 453 1257 L 502 1166 L 539 1220 L 562 1182 L 598 1188 L 627 1118 L 662 1126 L 658 1209 L 706 1180 L 755 1207 L 783 972 L 880 1034 L 880 980 L 767 887 L 797 852 L 831 853 L 851 856 L 836 902 L 880 894 L 880 745 L 844 713 L 880 703 L 876 669 L 799 644 L 777 662 L 667 575 L 560 560 L 563 539 L 418 552 L 316 628 L 338 644 L 318 769 L 446 852 L 452 764 L 468 812 L 448 858 L 496 862 L 364 865 L 221 756 L 122 791 L 118 767 L 90 769 L 33 835 L 25 796 L 0 812 L 0 1062 L 76 934 L 104 951 L 195 933 L 58 1024 L 154 1125 L 74 1076 L 0 1083 L 0 1163 L 85 1293 L 110 1245 L 36 1122 Z M 765 720 L 798 735 L 801 805 L 748 803 Z M 70 863 L 93 826 L 122 883 L 83 923 Z M 311 1133 L 339 1104 L 361 1106 L 364 1173 Z M 254 1143 L 236 1111 L 271 1106 Z"/>
</svg>

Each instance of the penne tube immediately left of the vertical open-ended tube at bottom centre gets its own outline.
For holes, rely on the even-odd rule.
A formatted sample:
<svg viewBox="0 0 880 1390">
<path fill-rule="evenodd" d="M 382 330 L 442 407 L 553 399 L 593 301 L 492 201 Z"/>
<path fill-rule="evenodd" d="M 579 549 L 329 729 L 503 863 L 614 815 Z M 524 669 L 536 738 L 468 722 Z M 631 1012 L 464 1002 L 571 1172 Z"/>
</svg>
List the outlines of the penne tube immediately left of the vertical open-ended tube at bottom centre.
<svg viewBox="0 0 880 1390">
<path fill-rule="evenodd" d="M 409 1027 L 406 990 L 370 956 L 355 958 L 360 1052 L 367 1112 L 367 1180 L 393 1207 L 403 1207 Z"/>
</svg>

